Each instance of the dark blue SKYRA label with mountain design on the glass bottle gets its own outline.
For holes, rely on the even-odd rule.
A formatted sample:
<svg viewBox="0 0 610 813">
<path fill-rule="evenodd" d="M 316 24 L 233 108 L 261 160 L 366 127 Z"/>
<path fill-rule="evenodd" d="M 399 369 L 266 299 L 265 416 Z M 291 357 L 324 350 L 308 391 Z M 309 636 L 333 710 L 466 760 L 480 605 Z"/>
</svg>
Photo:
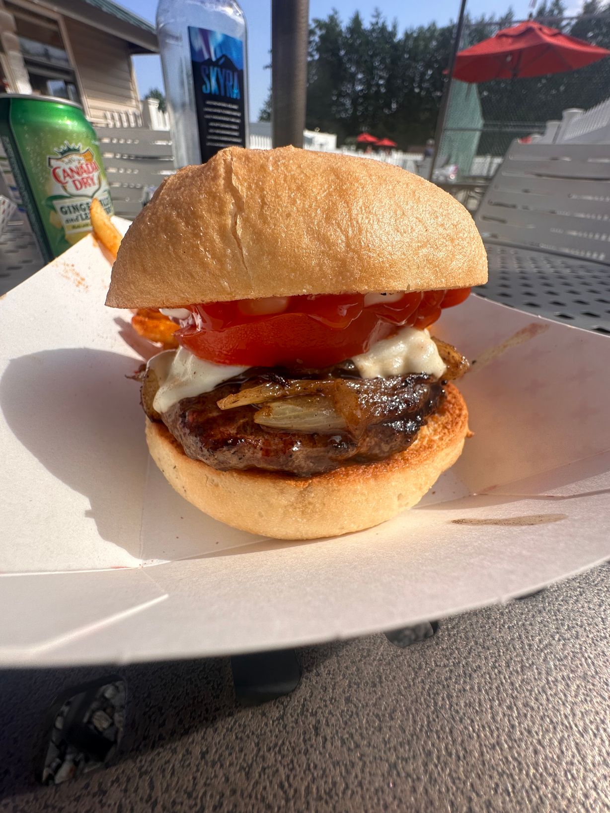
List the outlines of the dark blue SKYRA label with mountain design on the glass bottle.
<svg viewBox="0 0 610 813">
<path fill-rule="evenodd" d="M 205 163 L 218 150 L 246 146 L 242 40 L 189 26 L 195 107 Z"/>
</svg>

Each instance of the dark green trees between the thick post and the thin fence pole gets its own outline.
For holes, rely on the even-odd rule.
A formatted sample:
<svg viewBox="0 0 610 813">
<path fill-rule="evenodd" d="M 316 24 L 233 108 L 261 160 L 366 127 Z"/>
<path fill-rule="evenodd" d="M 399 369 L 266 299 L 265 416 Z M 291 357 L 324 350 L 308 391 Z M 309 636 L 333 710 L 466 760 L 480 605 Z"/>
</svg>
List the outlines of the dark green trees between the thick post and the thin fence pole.
<svg viewBox="0 0 610 813">
<path fill-rule="evenodd" d="M 434 132 L 442 68 L 452 27 L 399 34 L 375 11 L 356 12 L 345 27 L 338 12 L 314 20 L 310 32 L 307 126 L 349 135 L 373 130 L 407 146 Z"/>
</svg>

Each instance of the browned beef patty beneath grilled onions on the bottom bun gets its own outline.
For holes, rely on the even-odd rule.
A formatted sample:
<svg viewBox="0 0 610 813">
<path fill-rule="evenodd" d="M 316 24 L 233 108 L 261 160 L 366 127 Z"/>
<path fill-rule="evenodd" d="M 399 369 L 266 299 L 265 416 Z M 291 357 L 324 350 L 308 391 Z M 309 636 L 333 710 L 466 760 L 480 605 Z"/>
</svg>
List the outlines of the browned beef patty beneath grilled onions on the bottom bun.
<svg viewBox="0 0 610 813">
<path fill-rule="evenodd" d="M 301 373 L 299 377 L 311 380 L 314 374 Z M 272 378 L 287 380 L 276 374 Z M 338 432 L 265 428 L 255 422 L 258 406 L 225 410 L 217 406 L 220 399 L 246 385 L 260 384 L 264 380 L 261 376 L 246 382 L 243 377 L 229 380 L 209 393 L 184 398 L 160 418 L 185 453 L 208 466 L 220 470 L 258 468 L 308 477 L 346 463 L 386 459 L 407 449 L 444 397 L 442 382 L 423 374 L 361 379 L 349 363 L 344 363 L 330 374 L 325 371 L 324 380 L 329 379 L 341 381 L 342 392 L 334 401 L 338 410 L 342 411 L 345 397 L 349 402 L 345 414 L 349 409 L 352 418 L 358 418 L 356 422 L 348 419 L 350 428 Z M 147 412 L 149 417 L 159 418 Z"/>
</svg>

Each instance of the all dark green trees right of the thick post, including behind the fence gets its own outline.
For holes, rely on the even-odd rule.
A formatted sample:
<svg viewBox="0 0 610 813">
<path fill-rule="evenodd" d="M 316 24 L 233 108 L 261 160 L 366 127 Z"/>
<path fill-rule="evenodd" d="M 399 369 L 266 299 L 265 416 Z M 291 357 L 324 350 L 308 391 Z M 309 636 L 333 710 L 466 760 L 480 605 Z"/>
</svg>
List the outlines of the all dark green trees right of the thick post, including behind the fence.
<svg viewBox="0 0 610 813">
<path fill-rule="evenodd" d="M 562 0 L 543 0 L 536 17 L 599 46 L 610 47 L 610 4 L 586 0 L 577 20 L 560 20 Z M 595 15 L 591 18 L 589 15 Z M 465 20 L 461 48 L 514 24 L 509 7 L 499 18 Z M 312 22 L 309 37 L 307 127 L 338 134 L 339 143 L 364 131 L 406 149 L 434 136 L 455 24 L 399 32 L 381 11 L 368 22 L 359 13 L 345 24 L 336 10 Z M 591 107 L 608 97 L 610 59 L 578 71 L 478 85 L 487 123 L 512 122 L 514 135 L 539 129 L 565 107 Z M 516 122 L 522 123 L 522 132 Z M 489 138 L 487 138 L 489 142 Z M 481 138 L 481 149 L 486 137 Z M 489 146 L 487 144 L 487 146 Z"/>
</svg>

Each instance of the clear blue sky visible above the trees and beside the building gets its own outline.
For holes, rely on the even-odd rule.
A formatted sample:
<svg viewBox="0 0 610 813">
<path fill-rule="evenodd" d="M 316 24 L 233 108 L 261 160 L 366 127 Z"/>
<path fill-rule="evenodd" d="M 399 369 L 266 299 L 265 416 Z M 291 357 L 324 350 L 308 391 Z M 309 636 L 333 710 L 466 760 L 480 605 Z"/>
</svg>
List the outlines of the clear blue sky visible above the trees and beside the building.
<svg viewBox="0 0 610 813">
<path fill-rule="evenodd" d="M 145 20 L 155 22 L 157 4 L 155 0 L 117 0 L 120 5 L 129 8 Z M 246 15 L 248 24 L 248 67 L 250 72 L 250 107 L 251 120 L 258 118 L 259 109 L 267 96 L 271 81 L 270 71 L 264 69 L 269 62 L 271 47 L 271 0 L 239 0 Z M 481 14 L 502 14 L 512 6 L 518 18 L 527 17 L 530 0 L 470 0 L 468 12 L 473 16 Z M 376 7 L 389 20 L 394 17 L 399 21 L 399 28 L 410 28 L 437 22 L 445 24 L 455 20 L 458 14 L 459 0 L 310 0 L 309 13 L 313 17 L 326 17 L 332 8 L 336 8 L 343 20 L 347 20 L 355 11 L 365 19 Z M 163 77 L 158 56 L 139 56 L 134 58 L 137 73 L 137 86 L 141 95 L 155 86 L 163 87 Z"/>
</svg>

